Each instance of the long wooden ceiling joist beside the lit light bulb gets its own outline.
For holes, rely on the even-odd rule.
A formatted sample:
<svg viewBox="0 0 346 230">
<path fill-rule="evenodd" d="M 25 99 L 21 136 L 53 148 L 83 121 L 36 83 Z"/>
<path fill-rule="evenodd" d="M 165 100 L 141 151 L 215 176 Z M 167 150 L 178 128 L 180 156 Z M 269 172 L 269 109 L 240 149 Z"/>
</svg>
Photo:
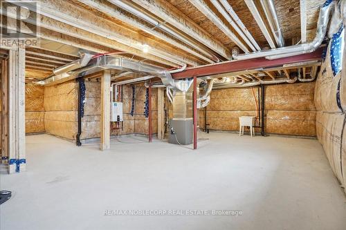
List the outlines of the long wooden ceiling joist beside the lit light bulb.
<svg viewBox="0 0 346 230">
<path fill-rule="evenodd" d="M 108 39 L 118 41 L 125 46 L 138 50 L 143 50 L 143 45 L 147 44 L 150 47 L 147 51 L 148 53 L 167 59 L 177 65 L 183 66 L 184 63 L 192 66 L 198 65 L 196 61 L 192 61 L 189 57 L 178 54 L 176 49 L 174 50 L 169 46 L 164 47 L 163 44 L 158 46 L 157 41 L 127 30 L 106 19 L 100 19 L 96 15 L 89 14 L 84 8 L 75 6 L 68 1 L 42 1 L 39 13 L 51 19 L 63 21 L 75 28 L 107 37 Z"/>
</svg>

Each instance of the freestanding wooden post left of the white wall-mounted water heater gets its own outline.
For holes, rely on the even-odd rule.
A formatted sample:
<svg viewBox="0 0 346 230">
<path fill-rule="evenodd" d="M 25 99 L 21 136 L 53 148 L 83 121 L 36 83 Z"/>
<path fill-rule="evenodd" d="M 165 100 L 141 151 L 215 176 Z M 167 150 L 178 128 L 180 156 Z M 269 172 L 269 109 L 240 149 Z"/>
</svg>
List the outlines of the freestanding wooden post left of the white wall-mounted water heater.
<svg viewBox="0 0 346 230">
<path fill-rule="evenodd" d="M 101 78 L 101 144 L 102 151 L 111 148 L 111 70 L 104 70 Z"/>
</svg>

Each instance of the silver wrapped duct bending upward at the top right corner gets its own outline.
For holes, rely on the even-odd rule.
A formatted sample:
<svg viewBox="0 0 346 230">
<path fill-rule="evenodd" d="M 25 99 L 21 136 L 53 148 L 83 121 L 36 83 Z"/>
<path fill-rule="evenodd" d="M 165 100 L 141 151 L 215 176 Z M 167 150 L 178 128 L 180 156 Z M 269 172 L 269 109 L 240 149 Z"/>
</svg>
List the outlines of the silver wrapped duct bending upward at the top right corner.
<svg viewBox="0 0 346 230">
<path fill-rule="evenodd" d="M 329 21 L 329 15 L 330 15 L 331 8 L 333 6 L 331 3 L 332 1 L 331 2 L 326 1 L 326 3 L 320 9 L 320 15 L 318 17 L 318 23 L 317 23 L 316 37 L 315 39 L 313 39 L 313 41 L 306 44 L 286 46 L 282 48 L 273 48 L 271 50 L 263 50 L 261 52 L 251 52 L 249 54 L 244 54 L 244 55 L 243 54 L 233 55 L 233 58 L 237 60 L 246 60 L 246 59 L 254 59 L 258 57 L 268 57 L 273 55 L 280 55 L 280 57 L 284 57 L 284 54 L 286 54 L 287 56 L 290 56 L 292 55 L 292 53 L 300 54 L 300 53 L 313 52 L 313 50 L 316 50 L 320 46 L 320 44 L 322 44 L 323 39 L 325 39 L 328 21 Z"/>
</svg>

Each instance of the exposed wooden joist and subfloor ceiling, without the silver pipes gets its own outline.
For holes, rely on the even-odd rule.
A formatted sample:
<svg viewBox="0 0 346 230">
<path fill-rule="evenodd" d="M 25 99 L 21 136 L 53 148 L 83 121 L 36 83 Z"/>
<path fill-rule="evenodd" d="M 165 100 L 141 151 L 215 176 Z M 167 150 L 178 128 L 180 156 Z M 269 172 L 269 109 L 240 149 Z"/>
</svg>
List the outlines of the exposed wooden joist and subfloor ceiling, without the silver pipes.
<svg viewBox="0 0 346 230">
<path fill-rule="evenodd" d="M 195 0 L 136 0 L 124 2 L 129 3 L 145 15 L 160 21 L 160 26 L 165 25 L 174 30 L 179 36 L 197 44 L 201 50 L 207 50 L 212 56 L 219 58 L 221 61 L 227 60 L 226 55 L 222 54 L 224 52 L 222 50 L 224 49 L 230 53 L 231 48 L 235 46 L 235 42 L 224 31 L 220 30 L 210 18 L 206 17 L 205 12 L 198 10 L 193 1 Z M 203 2 L 240 41 L 244 42 L 243 37 L 235 32 L 210 0 Z M 315 36 L 318 11 L 324 0 L 305 2 L 307 4 L 307 41 L 311 41 Z M 246 2 L 228 0 L 228 3 L 260 48 L 268 47 L 268 41 L 266 41 L 262 30 L 257 25 L 248 6 L 246 6 Z M 297 43 L 300 41 L 301 34 L 300 1 L 274 0 L 274 3 L 286 46 Z M 40 36 L 42 38 L 42 47 L 28 48 L 30 53 L 26 55 L 27 77 L 31 80 L 44 79 L 52 74 L 53 68 L 77 59 L 78 52 L 81 50 L 95 54 L 116 52 L 122 57 L 143 61 L 162 68 L 177 68 L 184 63 L 188 66 L 200 66 L 210 64 L 210 62 L 216 60 L 213 57 L 206 58 L 201 50 L 197 50 L 197 48 L 181 41 L 181 39 L 173 37 L 167 31 L 158 28 L 159 26 L 154 26 L 140 19 L 138 15 L 131 14 L 115 4 L 115 1 L 105 0 L 42 1 L 42 15 L 39 17 L 41 19 Z M 260 1 L 256 0 L 255 4 L 265 21 Z M 156 7 L 156 10 L 162 10 L 164 6 L 163 11 L 172 14 L 172 19 L 182 21 L 187 26 L 179 28 L 174 20 L 167 20 L 167 18 L 154 12 L 148 6 Z M 138 24 L 141 26 L 138 26 Z M 201 37 L 192 36 L 194 32 L 199 32 Z M 207 43 L 210 42 L 210 45 L 203 42 L 203 39 L 208 40 Z M 144 53 L 141 49 L 144 44 L 149 45 L 149 52 L 147 53 Z M 249 51 L 251 52 L 251 49 Z M 204 58 L 201 58 L 202 56 Z"/>
</svg>

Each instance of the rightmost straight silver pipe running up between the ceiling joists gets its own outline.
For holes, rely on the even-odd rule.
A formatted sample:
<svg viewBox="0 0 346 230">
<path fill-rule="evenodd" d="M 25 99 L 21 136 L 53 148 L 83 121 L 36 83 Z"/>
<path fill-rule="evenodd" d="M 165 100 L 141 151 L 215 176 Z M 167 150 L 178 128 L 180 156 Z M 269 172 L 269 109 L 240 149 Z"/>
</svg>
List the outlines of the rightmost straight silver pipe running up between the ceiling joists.
<svg viewBox="0 0 346 230">
<path fill-rule="evenodd" d="M 282 31 L 277 18 L 277 13 L 275 10 L 275 5 L 273 0 L 261 0 L 261 5 L 268 19 L 269 26 L 271 27 L 271 32 L 273 32 L 277 46 L 284 47 L 284 36 L 282 36 Z"/>
</svg>

